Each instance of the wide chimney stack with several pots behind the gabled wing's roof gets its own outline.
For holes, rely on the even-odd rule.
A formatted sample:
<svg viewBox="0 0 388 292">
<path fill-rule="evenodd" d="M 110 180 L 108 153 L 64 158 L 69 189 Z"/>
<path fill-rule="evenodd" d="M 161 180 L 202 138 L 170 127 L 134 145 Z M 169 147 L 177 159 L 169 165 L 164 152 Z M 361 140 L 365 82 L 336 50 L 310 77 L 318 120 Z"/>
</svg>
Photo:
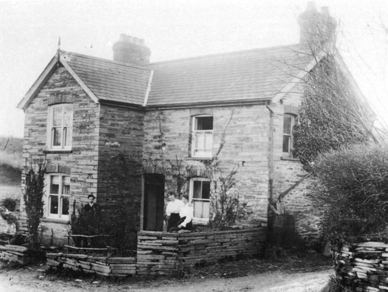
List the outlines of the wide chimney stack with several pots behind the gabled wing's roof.
<svg viewBox="0 0 388 292">
<path fill-rule="evenodd" d="M 144 45 L 144 39 L 120 34 L 120 39 L 113 44 L 113 61 L 146 65 L 151 51 Z"/>
</svg>

